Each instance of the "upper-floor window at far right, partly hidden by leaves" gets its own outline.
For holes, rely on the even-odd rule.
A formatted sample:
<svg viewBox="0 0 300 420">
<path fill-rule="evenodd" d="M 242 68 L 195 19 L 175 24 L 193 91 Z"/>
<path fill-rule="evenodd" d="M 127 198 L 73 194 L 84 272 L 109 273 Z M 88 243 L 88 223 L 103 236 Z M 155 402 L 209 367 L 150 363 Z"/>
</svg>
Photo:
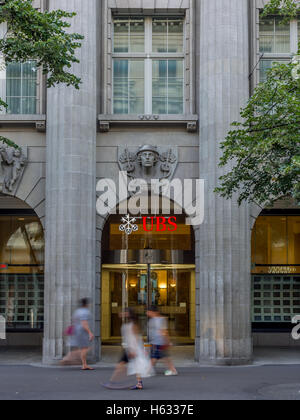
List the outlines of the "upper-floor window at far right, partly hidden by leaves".
<svg viewBox="0 0 300 420">
<path fill-rule="evenodd" d="M 290 23 L 283 23 L 281 17 L 266 17 L 260 20 L 260 82 L 266 81 L 267 71 L 275 63 L 290 62 L 291 56 L 297 52 L 299 41 L 300 20 Z"/>
</svg>

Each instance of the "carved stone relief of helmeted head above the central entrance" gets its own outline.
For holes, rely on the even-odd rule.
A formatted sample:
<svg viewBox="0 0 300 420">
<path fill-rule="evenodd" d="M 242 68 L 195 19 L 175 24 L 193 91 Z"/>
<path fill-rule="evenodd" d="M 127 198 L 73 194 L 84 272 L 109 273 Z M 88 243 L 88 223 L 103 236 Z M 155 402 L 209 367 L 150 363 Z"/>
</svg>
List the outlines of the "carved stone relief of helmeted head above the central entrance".
<svg viewBox="0 0 300 420">
<path fill-rule="evenodd" d="M 175 146 L 119 147 L 119 165 L 131 179 L 173 178 L 178 164 L 178 148 Z"/>
</svg>

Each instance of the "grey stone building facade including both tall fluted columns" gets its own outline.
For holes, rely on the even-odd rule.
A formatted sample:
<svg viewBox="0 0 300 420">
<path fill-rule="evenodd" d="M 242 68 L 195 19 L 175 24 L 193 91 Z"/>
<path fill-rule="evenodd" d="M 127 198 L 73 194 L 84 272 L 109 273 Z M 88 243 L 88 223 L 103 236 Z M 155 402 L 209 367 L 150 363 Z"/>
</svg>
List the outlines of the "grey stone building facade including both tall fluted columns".
<svg viewBox="0 0 300 420">
<path fill-rule="evenodd" d="M 151 145 L 176 150 L 174 177 L 205 180 L 205 221 L 193 233 L 195 359 L 248 363 L 253 339 L 261 345 L 294 345 L 288 333 L 268 332 L 264 341 L 251 328 L 251 231 L 261 209 L 239 207 L 236 200 L 225 201 L 213 192 L 223 174 L 218 166 L 220 142 L 258 82 L 263 0 L 35 4 L 77 13 L 72 30 L 85 39 L 73 71 L 82 85 L 80 90 L 58 86 L 46 91 L 40 77 L 35 114 L 0 115 L 0 134 L 19 144 L 26 155 L 13 188 L 2 190 L 0 208 L 32 209 L 45 232 L 43 333 L 10 332 L 10 344 L 41 344 L 43 337 L 44 362 L 57 361 L 66 350 L 64 330 L 78 299 L 90 296 L 96 332 L 93 356 L 101 358 L 101 249 L 108 219 L 96 214 L 96 184 L 103 178 L 117 182 L 120 147 L 138 150 Z M 184 63 L 183 112 L 114 112 L 114 60 L 128 54 L 113 48 L 114 20 L 128 17 L 182 19 L 184 48 L 175 56 L 167 54 Z M 134 53 L 133 61 L 156 56 L 162 60 L 160 53 Z"/>
</svg>

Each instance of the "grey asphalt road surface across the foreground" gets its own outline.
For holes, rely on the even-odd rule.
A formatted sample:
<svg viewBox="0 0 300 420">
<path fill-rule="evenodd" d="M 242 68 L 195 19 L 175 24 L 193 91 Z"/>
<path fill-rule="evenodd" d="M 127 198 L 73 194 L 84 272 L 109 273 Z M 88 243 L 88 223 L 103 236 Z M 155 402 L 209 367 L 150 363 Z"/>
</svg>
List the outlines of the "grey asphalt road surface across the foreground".
<svg viewBox="0 0 300 420">
<path fill-rule="evenodd" d="M 179 371 L 178 377 L 146 380 L 144 391 L 109 391 L 100 385 L 110 377 L 109 368 L 0 366 L 0 400 L 300 400 L 299 365 Z"/>
</svg>

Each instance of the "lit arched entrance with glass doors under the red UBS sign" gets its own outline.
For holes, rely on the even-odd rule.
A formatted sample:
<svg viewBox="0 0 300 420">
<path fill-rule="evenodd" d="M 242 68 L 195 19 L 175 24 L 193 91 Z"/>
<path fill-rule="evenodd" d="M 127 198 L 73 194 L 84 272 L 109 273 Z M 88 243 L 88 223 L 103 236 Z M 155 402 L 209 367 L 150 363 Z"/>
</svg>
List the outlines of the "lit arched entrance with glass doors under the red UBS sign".
<svg viewBox="0 0 300 420">
<path fill-rule="evenodd" d="M 101 341 L 121 344 L 120 313 L 132 307 L 148 337 L 146 308 L 155 305 L 169 321 L 176 345 L 195 342 L 195 240 L 185 216 L 177 229 L 159 226 L 155 216 L 137 217 L 137 230 L 120 230 L 121 216 L 112 215 L 102 234 Z M 171 217 L 171 216 L 169 216 Z M 167 225 L 168 225 L 168 217 Z M 161 229 L 161 230 L 160 230 Z"/>
</svg>

